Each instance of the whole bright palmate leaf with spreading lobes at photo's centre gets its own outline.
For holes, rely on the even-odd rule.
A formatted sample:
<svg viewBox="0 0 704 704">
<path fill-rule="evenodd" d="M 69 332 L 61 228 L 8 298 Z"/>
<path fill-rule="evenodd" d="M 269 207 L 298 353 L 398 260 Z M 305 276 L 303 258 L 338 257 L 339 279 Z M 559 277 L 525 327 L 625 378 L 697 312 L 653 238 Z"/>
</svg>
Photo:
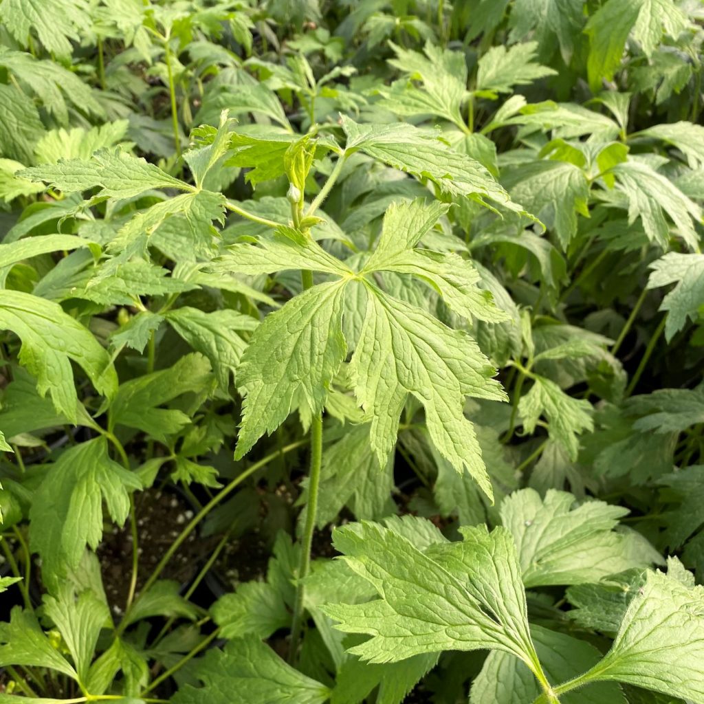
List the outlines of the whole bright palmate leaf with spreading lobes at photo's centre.
<svg viewBox="0 0 704 704">
<path fill-rule="evenodd" d="M 491 379 L 494 368 L 465 332 L 446 327 L 372 283 L 375 271 L 398 267 L 435 284 L 463 315 L 503 320 L 486 291 L 476 285 L 479 277 L 470 263 L 460 260 L 453 271 L 455 258 L 437 256 L 426 268 L 425 254 L 412 249 L 442 212 L 443 206 L 422 201 L 389 208 L 377 254 L 357 275 L 312 239 L 301 241 L 302 236 L 289 228 L 279 228 L 275 239 L 261 240 L 260 246 L 249 250 L 237 245 L 216 264 L 220 271 L 308 268 L 342 277 L 296 296 L 265 318 L 253 335 L 239 370 L 238 384 L 246 399 L 237 458 L 265 432 L 272 433 L 301 398 L 308 410 L 322 411 L 347 352 L 342 317 L 354 311 L 346 307 L 350 297 L 345 289 L 363 287 L 360 300 L 366 298 L 366 306 L 350 372 L 357 401 L 371 420 L 370 443 L 379 464 L 386 465 L 401 410 L 408 394 L 413 394 L 425 407 L 436 448 L 458 472 L 467 468 L 491 496 L 491 482 L 463 406 L 465 396 L 505 400 L 501 386 Z"/>
</svg>

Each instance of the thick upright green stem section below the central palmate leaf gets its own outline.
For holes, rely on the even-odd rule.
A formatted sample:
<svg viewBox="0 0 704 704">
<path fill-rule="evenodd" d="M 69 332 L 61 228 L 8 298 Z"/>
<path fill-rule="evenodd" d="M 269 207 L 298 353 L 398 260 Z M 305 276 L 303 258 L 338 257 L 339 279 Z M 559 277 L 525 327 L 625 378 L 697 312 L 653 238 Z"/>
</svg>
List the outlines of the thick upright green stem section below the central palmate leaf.
<svg viewBox="0 0 704 704">
<path fill-rule="evenodd" d="M 303 528 L 301 559 L 296 575 L 296 601 L 294 617 L 291 622 L 291 642 L 289 643 L 289 662 L 296 660 L 298 640 L 303 624 L 303 580 L 310 569 L 310 548 L 313 545 L 315 518 L 318 513 L 318 489 L 320 488 L 320 466 L 322 465 L 322 415 L 318 414 L 310 423 L 310 472 L 308 474 L 308 502 L 306 503 L 306 525 Z"/>
</svg>

